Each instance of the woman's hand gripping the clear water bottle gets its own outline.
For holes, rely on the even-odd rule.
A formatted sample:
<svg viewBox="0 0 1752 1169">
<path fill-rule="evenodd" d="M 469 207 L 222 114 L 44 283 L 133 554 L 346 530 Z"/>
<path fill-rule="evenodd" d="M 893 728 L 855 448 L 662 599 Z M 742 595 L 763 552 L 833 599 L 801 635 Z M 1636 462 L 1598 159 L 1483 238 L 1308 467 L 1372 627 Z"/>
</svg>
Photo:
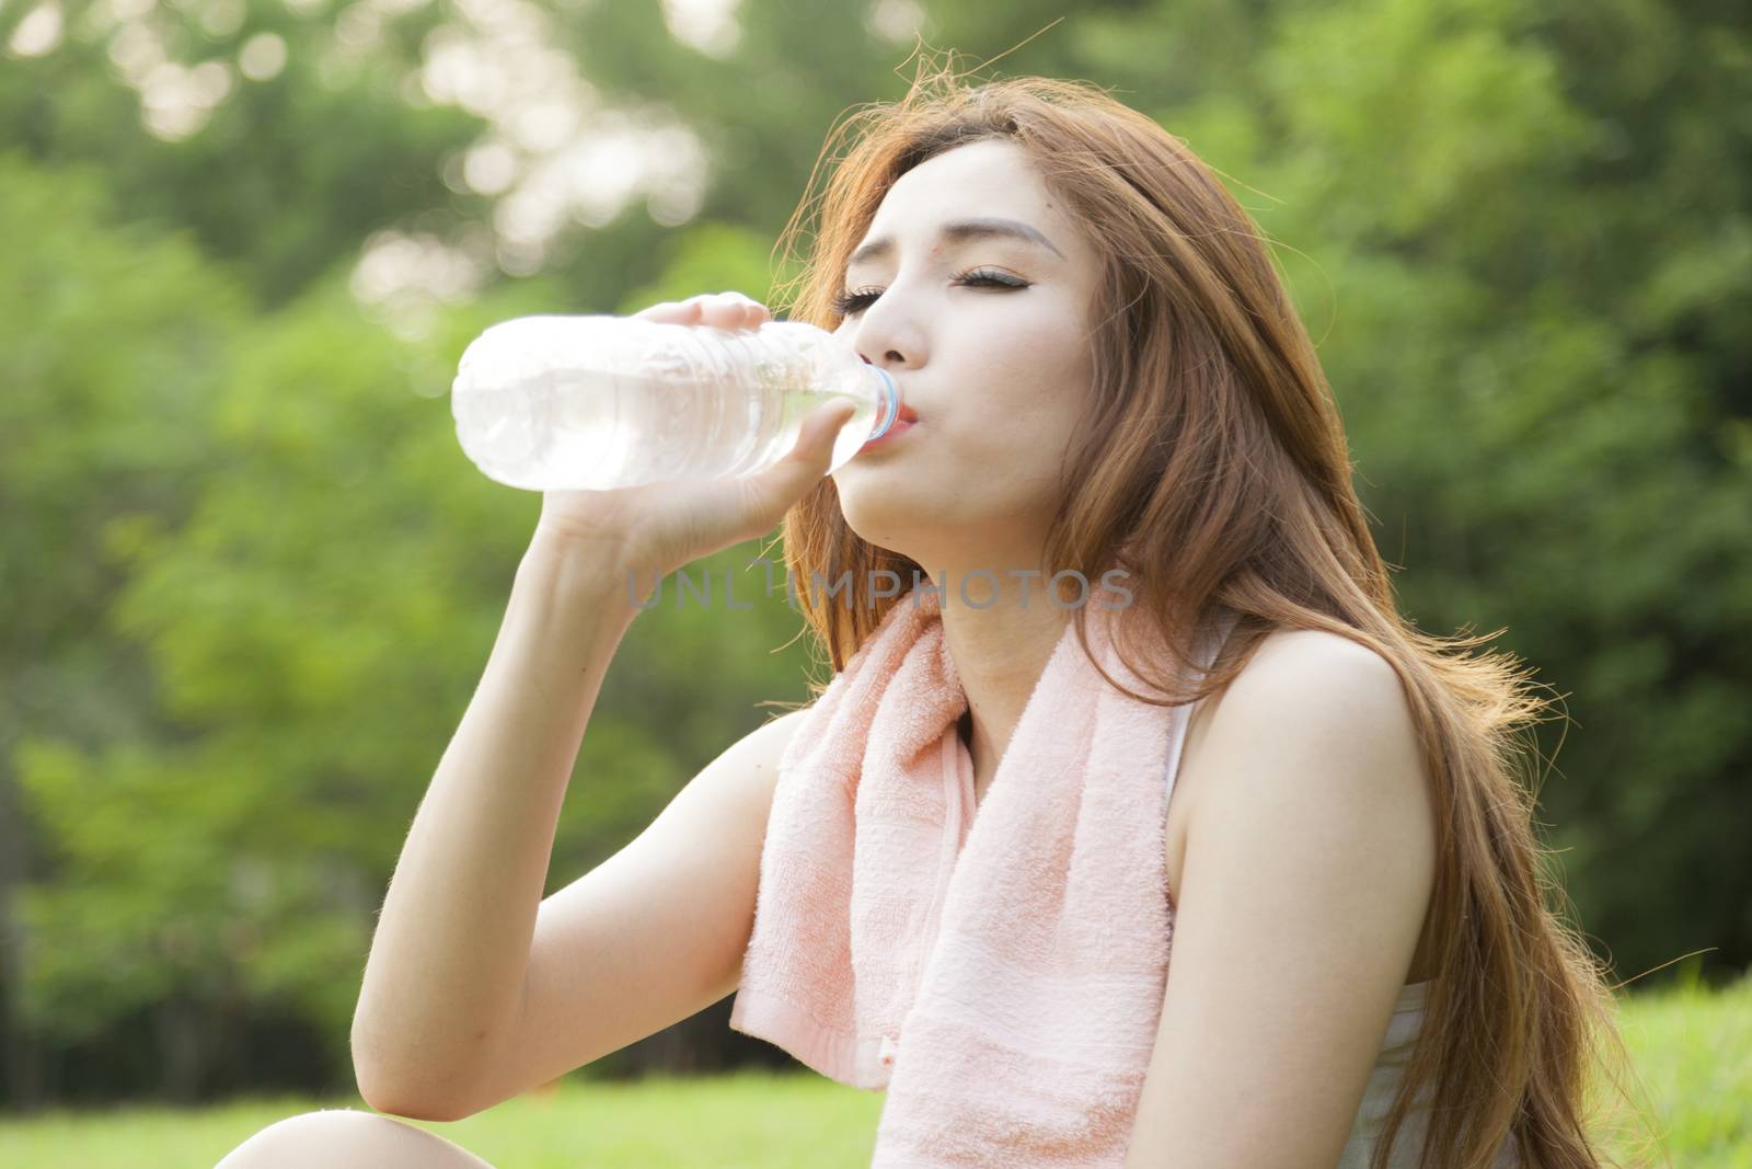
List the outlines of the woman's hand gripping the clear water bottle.
<svg viewBox="0 0 1752 1169">
<path fill-rule="evenodd" d="M 636 319 L 718 329 L 759 329 L 766 305 L 739 293 L 662 301 Z M 669 573 L 771 531 L 827 473 L 834 438 L 857 405 L 844 400 L 806 415 L 792 450 L 766 470 L 739 477 L 682 478 L 611 491 L 545 491 L 538 536 L 603 556 L 638 573 Z"/>
</svg>

